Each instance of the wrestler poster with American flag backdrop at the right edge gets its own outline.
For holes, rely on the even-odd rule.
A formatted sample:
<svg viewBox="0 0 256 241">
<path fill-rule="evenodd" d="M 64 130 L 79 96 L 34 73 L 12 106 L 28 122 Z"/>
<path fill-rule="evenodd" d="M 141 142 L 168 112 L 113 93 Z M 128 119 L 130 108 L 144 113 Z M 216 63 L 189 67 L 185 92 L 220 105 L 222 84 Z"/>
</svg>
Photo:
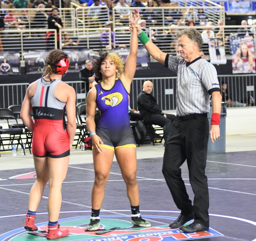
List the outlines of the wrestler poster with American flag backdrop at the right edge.
<svg viewBox="0 0 256 241">
<path fill-rule="evenodd" d="M 232 73 L 256 73 L 253 36 L 230 36 Z"/>
</svg>

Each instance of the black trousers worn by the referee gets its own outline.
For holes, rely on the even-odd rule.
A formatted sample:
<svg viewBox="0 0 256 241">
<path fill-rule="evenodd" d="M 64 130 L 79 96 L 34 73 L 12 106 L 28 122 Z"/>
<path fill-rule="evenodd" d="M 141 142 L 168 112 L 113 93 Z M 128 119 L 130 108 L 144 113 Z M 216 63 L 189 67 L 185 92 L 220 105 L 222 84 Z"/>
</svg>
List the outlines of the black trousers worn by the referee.
<svg viewBox="0 0 256 241">
<path fill-rule="evenodd" d="M 194 221 L 209 226 L 209 192 L 205 175 L 209 123 L 207 116 L 198 115 L 190 120 L 176 120 L 171 125 L 165 143 L 163 174 L 173 200 L 182 215 L 194 212 Z M 187 159 L 189 181 L 194 191 L 194 204 L 181 176 L 183 162 Z"/>
</svg>

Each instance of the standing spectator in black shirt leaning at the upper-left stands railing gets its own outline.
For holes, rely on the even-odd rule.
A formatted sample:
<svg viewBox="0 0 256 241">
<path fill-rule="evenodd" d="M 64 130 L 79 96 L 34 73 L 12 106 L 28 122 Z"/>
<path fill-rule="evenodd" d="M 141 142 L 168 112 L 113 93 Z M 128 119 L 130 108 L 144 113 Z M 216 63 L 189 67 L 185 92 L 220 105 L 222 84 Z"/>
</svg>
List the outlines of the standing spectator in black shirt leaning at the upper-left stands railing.
<svg viewBox="0 0 256 241">
<path fill-rule="evenodd" d="M 52 15 L 48 16 L 48 29 L 56 29 L 57 30 L 57 48 L 59 46 L 59 30 L 62 29 L 63 24 L 61 18 L 58 17 L 59 9 L 57 7 L 52 8 Z M 47 31 L 45 37 L 46 45 L 48 49 L 54 48 L 54 32 Z"/>
</svg>

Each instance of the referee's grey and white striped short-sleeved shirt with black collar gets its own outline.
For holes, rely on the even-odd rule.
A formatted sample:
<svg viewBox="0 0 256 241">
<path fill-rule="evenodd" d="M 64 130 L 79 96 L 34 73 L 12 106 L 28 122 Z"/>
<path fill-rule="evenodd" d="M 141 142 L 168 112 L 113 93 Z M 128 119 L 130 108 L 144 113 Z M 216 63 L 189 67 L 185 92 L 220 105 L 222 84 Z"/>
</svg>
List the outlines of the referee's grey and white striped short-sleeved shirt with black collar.
<svg viewBox="0 0 256 241">
<path fill-rule="evenodd" d="M 208 113 L 211 93 L 220 91 L 215 67 L 201 57 L 188 63 L 182 57 L 169 54 L 164 66 L 177 74 L 177 115 Z"/>
</svg>

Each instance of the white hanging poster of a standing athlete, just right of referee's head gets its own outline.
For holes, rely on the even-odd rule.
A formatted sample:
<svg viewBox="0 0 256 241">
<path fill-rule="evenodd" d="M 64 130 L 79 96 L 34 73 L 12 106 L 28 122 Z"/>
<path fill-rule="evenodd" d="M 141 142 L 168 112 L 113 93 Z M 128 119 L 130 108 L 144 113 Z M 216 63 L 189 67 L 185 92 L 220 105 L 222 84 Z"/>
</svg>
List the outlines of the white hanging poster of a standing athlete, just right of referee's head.
<svg viewBox="0 0 256 241">
<path fill-rule="evenodd" d="M 213 65 L 225 65 L 227 58 L 224 43 L 221 38 L 209 38 L 209 56 Z"/>
</svg>

